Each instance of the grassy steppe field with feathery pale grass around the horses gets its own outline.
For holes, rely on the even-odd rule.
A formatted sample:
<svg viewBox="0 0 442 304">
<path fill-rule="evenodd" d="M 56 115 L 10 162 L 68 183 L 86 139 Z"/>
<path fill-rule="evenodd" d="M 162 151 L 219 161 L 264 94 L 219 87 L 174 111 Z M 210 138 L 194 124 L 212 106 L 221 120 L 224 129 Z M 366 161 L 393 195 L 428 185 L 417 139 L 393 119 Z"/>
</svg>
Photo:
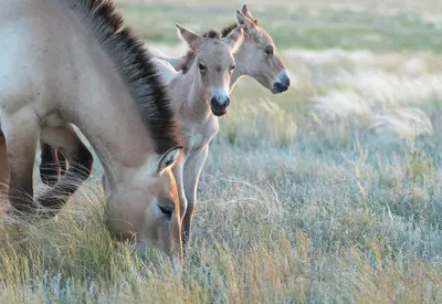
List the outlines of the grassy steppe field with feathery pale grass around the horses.
<svg viewBox="0 0 442 304">
<path fill-rule="evenodd" d="M 170 55 L 243 4 L 117 3 Z M 57 218 L 0 217 L 0 303 L 442 303 L 442 1 L 248 4 L 292 86 L 234 88 L 183 271 L 114 241 L 96 160 Z"/>
</svg>

